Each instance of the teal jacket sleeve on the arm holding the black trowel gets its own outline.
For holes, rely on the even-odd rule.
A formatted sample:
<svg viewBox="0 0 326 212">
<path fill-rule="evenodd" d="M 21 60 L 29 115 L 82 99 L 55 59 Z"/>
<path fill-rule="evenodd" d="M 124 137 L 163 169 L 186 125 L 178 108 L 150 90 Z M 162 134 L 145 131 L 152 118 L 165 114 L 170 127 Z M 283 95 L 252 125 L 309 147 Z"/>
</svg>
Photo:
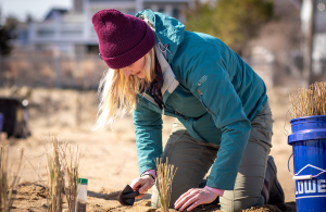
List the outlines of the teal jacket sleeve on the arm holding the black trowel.
<svg viewBox="0 0 326 212">
<path fill-rule="evenodd" d="M 155 159 L 162 155 L 162 115 L 137 103 L 133 113 L 139 175 L 156 170 Z"/>
</svg>

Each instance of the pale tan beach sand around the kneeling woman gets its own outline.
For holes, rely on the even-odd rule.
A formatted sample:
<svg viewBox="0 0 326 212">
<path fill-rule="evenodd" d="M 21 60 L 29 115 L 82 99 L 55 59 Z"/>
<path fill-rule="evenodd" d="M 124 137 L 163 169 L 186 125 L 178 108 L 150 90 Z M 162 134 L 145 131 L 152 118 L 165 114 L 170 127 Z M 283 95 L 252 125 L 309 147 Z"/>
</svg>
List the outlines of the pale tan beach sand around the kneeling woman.
<svg viewBox="0 0 326 212">
<path fill-rule="evenodd" d="M 1 89 L 0 96 L 8 95 Z M 246 211 L 296 211 L 294 182 L 287 161 L 292 150 L 287 145 L 290 134 L 288 90 L 268 90 L 274 114 L 274 136 L 271 154 L 274 157 L 278 179 L 286 195 L 286 203 L 263 205 Z M 79 103 L 79 107 L 77 104 Z M 34 89 L 29 100 L 27 139 L 7 139 L 1 134 L 0 146 L 10 146 L 10 167 L 16 167 L 18 151 L 24 148 L 24 167 L 16 188 L 13 211 L 48 211 L 46 147 L 48 136 L 60 136 L 70 146 L 82 147 L 82 177 L 88 178 L 87 211 L 160 211 L 150 208 L 150 191 L 134 207 L 122 207 L 116 200 L 120 191 L 138 177 L 134 124 L 129 115 L 118 119 L 113 126 L 92 130 L 98 101 L 95 91 Z M 163 141 L 167 140 L 174 119 L 163 116 Z M 87 158 L 86 158 L 87 155 Z M 85 159 L 85 163 L 84 163 Z M 290 163 L 292 167 L 292 163 Z M 66 208 L 66 205 L 65 205 Z M 200 207 L 193 211 L 220 211 L 218 205 Z"/>
</svg>

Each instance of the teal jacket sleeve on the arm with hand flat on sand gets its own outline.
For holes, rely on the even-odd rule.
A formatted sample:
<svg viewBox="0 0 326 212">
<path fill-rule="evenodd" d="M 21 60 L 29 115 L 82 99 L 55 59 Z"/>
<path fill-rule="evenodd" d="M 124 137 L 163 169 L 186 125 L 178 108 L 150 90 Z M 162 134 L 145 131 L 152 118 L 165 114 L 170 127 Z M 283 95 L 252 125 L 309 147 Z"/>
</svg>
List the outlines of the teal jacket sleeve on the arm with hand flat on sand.
<svg viewBox="0 0 326 212">
<path fill-rule="evenodd" d="M 203 51 L 185 53 L 187 58 L 184 61 L 187 62 L 180 68 L 185 68 L 186 73 L 184 83 L 222 130 L 221 147 L 208 177 L 208 186 L 233 190 L 251 124 L 226 71 L 227 62 L 218 54 L 218 49 L 210 45 L 198 48 Z"/>
</svg>

